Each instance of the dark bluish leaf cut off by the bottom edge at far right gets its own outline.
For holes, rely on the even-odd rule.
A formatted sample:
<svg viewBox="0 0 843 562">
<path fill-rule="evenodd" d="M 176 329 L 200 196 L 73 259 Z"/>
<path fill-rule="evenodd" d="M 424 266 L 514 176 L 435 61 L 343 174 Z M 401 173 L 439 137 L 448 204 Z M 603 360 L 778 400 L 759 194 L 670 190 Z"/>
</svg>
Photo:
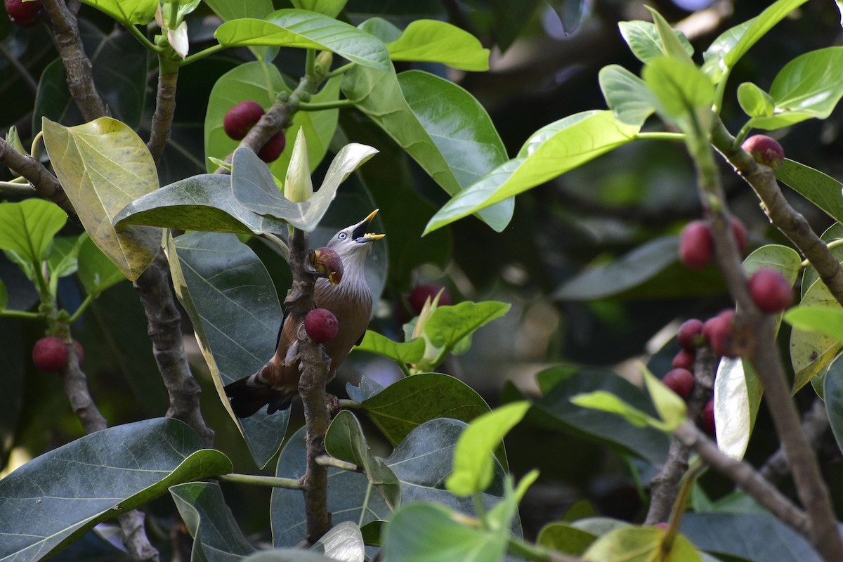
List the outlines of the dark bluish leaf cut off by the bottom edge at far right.
<svg viewBox="0 0 843 562">
<path fill-rule="evenodd" d="M 768 514 L 686 512 L 679 530 L 697 548 L 715 554 L 776 562 L 820 560 L 802 535 Z"/>
</svg>

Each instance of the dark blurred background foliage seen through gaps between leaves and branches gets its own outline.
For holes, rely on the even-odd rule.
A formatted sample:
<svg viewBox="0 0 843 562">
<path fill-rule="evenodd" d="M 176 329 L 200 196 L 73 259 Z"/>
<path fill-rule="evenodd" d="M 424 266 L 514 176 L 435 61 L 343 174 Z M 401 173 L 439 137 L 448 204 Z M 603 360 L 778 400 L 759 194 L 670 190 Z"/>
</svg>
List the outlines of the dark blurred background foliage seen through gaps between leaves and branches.
<svg viewBox="0 0 843 562">
<path fill-rule="evenodd" d="M 763 0 L 649 0 L 647 4 L 683 29 L 698 51 L 723 30 L 768 5 Z M 275 5 L 290 7 L 282 0 Z M 207 7 L 194 15 L 191 41 L 210 42 L 218 20 Z M 403 64 L 399 70 L 419 67 L 469 90 L 489 111 L 510 156 L 541 126 L 577 111 L 604 109 L 599 69 L 615 63 L 636 74 L 640 70 L 617 24 L 649 19 L 644 3 L 637 0 L 349 0 L 341 14 L 352 24 L 373 16 L 399 27 L 414 19 L 448 20 L 492 49 L 490 72 L 454 72 L 424 64 Z M 110 111 L 142 137 L 148 136 L 157 75 L 153 61 L 125 29 L 93 9 L 83 6 L 80 22 L 94 62 L 94 79 Z M 835 4 L 806 3 L 760 40 L 733 71 L 722 114 L 727 126 L 736 132 L 743 123 L 734 97 L 739 83 L 752 81 L 769 88 L 776 72 L 795 56 L 839 44 L 840 12 Z M 43 27 L 13 29 L 3 16 L 0 55 L 3 133 L 8 126 L 17 126 L 24 145 L 29 146 L 43 115 L 66 125 L 81 122 Z M 204 172 L 202 131 L 212 86 L 223 73 L 250 60 L 248 50 L 228 50 L 183 69 L 173 135 L 160 167 L 162 185 Z M 303 51 L 282 50 L 276 64 L 294 83 L 293 77 L 303 67 Z M 828 120 L 809 120 L 777 131 L 776 136 L 788 157 L 843 179 L 841 117 L 837 110 Z M 536 373 L 553 365 L 636 372 L 630 367 L 633 362 L 647 361 L 681 320 L 707 318 L 730 305 L 715 270 L 691 272 L 675 260 L 679 230 L 701 212 L 693 169 L 679 144 L 631 143 L 519 195 L 513 222 L 500 234 L 469 218 L 421 238 L 428 218 L 447 201 L 447 195 L 362 114 L 342 110 L 340 126 L 333 149 L 348 140 L 380 151 L 341 189 L 379 206 L 388 234 L 388 279 L 372 328 L 398 339 L 400 324 L 408 314 L 406 294 L 421 282 L 447 286 L 454 302 L 511 302 L 513 308 L 506 317 L 475 335 L 468 354 L 443 365 L 443 372 L 469 383 L 490 404 L 496 404 L 502 392 L 515 393 L 516 388 L 535 395 Z M 723 172 L 729 205 L 749 227 L 750 249 L 782 242 L 749 187 L 726 166 Z M 314 176 L 319 179 L 322 174 L 324 168 Z M 818 232 L 830 225 L 830 219 L 813 206 L 800 204 L 797 195 L 787 192 L 787 197 Z M 356 215 L 345 220 L 341 201 L 326 220 L 337 226 L 359 220 Z M 69 224 L 64 233 L 79 232 L 78 225 Z M 286 265 L 260 242 L 251 245 L 266 261 L 283 295 L 288 286 Z M 35 292 L 2 257 L 0 277 L 8 286 L 10 308 L 35 304 Z M 73 309 L 78 287 L 72 278 L 65 281 L 62 302 Z M 58 378 L 37 372 L 31 364 L 31 345 L 42 328 L 7 318 L 0 321 L 0 465 L 4 471 L 83 433 Z M 110 425 L 164 415 L 164 387 L 146 335 L 146 319 L 130 283 L 105 292 L 74 329 L 85 349 L 84 369 L 92 393 Z M 782 335 L 782 341 L 787 341 L 786 336 Z M 189 345 L 191 338 L 192 329 L 185 320 Z M 217 448 L 234 460 L 236 470 L 254 472 L 239 433 L 218 402 L 195 342 L 189 349 L 192 366 L 205 387 L 203 412 L 217 431 Z M 665 356 L 671 356 L 669 349 Z M 356 383 L 362 372 L 384 382 L 396 375 L 389 361 L 362 353 L 352 354 L 343 371 L 333 383 L 332 390 L 338 394 L 344 393 L 346 382 Z M 765 433 L 764 415 L 762 409 L 750 460 L 763 459 L 777 447 L 775 436 Z M 290 431 L 295 429 L 293 424 Z M 526 500 L 529 509 L 522 509 L 528 535 L 541 522 L 561 517 L 577 500 L 590 500 L 594 510 L 613 517 L 640 515 L 634 473 L 624 457 L 529 420 L 513 432 L 507 447 L 516 474 L 533 467 L 541 470 L 540 481 Z M 840 482 L 839 476 L 830 479 L 833 486 Z M 723 491 L 728 490 L 724 487 Z M 268 495 L 268 490 L 254 489 L 228 495 L 247 533 L 266 529 Z M 162 506 L 163 513 L 169 510 Z"/>
</svg>

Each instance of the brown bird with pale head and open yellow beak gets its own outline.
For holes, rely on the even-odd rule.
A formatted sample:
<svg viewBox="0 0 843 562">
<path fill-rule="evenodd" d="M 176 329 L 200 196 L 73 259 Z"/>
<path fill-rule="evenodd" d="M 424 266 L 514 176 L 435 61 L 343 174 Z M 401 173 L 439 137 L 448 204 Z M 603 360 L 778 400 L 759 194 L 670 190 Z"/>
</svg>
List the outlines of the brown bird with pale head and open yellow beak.
<svg viewBox="0 0 843 562">
<path fill-rule="evenodd" d="M 324 344 L 330 357 L 329 381 L 352 347 L 362 341 L 372 314 L 372 292 L 366 282 L 365 264 L 372 243 L 385 236 L 366 232 L 376 214 L 378 209 L 330 238 L 325 248 L 340 256 L 340 275 L 330 271 L 330 275 L 320 276 L 314 285 L 316 307 L 330 310 L 339 324 L 336 336 Z M 316 269 L 320 269 L 319 265 Z M 225 394 L 231 399 L 231 409 L 238 418 L 255 415 L 265 405 L 266 413 L 271 415 L 287 409 L 298 396 L 300 376 L 296 325 L 293 317 L 285 314 L 278 330 L 275 355 L 258 372 L 227 384 Z"/>
</svg>

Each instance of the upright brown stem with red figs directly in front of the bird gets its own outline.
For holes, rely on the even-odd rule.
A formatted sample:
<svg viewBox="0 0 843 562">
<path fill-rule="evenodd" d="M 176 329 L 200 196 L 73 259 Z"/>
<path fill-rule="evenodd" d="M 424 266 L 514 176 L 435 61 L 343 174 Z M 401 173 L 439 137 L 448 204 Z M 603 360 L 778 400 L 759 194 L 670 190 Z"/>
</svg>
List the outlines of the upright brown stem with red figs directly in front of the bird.
<svg viewBox="0 0 843 562">
<path fill-rule="evenodd" d="M 307 235 L 295 229 L 290 244 L 290 267 L 293 270 L 293 290 L 284 301 L 296 325 L 298 351 L 302 369 L 298 393 L 304 405 L 304 424 L 307 428 L 307 469 L 301 479 L 304 510 L 307 520 L 307 540 L 315 543 L 330 530 L 328 511 L 328 469 L 317 462 L 325 453 L 325 433 L 328 431 L 328 411 L 325 384 L 328 381 L 328 358 L 319 344 L 304 333 L 304 317 L 314 307 L 314 281 L 305 264 L 308 256 Z"/>
</svg>

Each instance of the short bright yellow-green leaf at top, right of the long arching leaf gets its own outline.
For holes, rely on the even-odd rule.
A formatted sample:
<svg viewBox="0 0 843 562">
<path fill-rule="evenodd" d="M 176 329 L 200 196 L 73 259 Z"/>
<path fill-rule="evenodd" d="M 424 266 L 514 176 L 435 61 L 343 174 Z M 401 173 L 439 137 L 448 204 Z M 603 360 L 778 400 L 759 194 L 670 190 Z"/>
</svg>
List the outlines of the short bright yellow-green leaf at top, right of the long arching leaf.
<svg viewBox="0 0 843 562">
<path fill-rule="evenodd" d="M 393 61 L 441 62 L 459 70 L 489 70 L 489 50 L 474 35 L 437 19 L 412 21 L 386 48 Z"/>
</svg>

